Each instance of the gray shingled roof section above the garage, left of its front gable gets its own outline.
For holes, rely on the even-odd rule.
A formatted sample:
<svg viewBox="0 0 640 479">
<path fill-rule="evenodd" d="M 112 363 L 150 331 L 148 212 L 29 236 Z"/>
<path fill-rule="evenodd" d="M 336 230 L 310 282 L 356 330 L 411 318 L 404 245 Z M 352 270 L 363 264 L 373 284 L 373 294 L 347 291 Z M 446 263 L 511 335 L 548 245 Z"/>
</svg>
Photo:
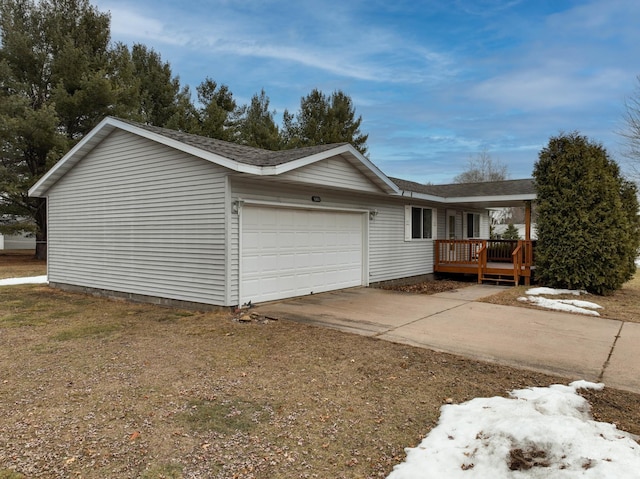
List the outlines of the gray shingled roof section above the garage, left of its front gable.
<svg viewBox="0 0 640 479">
<path fill-rule="evenodd" d="M 169 130 L 167 128 L 160 128 L 157 126 L 143 125 L 142 123 L 136 123 L 128 120 L 121 120 L 138 128 L 145 129 L 152 133 L 162 135 L 166 138 L 179 141 L 186 145 L 190 145 L 199 148 L 209 153 L 223 156 L 230 160 L 237 161 L 252 166 L 277 166 L 290 161 L 299 160 L 307 156 L 315 155 L 316 153 L 322 153 L 323 151 L 331 150 L 338 146 L 342 146 L 345 143 L 333 143 L 329 145 L 316 145 L 306 148 L 296 148 L 292 150 L 280 150 L 271 151 L 263 150 L 261 148 L 254 148 L 251 146 L 238 145 L 236 143 L 230 143 L 227 141 L 216 140 L 214 138 L 207 138 L 204 136 L 192 135 L 190 133 L 183 133 L 181 131 Z"/>
</svg>

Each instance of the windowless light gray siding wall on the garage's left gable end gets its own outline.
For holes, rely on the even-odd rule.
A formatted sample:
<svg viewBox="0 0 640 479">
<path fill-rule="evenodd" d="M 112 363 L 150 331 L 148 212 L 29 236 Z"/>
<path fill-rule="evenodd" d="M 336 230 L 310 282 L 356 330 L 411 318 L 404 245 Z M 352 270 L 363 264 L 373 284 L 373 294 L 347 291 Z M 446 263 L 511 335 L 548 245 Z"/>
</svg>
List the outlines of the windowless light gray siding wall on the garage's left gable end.
<svg viewBox="0 0 640 479">
<path fill-rule="evenodd" d="M 49 191 L 49 281 L 225 304 L 225 176 L 115 131 Z"/>
</svg>

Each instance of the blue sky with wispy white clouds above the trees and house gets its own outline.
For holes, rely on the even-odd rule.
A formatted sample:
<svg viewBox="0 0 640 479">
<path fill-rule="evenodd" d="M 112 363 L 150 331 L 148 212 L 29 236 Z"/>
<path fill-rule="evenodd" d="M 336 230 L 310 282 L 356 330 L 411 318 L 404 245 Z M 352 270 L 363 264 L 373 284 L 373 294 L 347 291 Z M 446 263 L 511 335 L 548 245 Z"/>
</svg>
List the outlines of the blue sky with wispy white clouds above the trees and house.
<svg viewBox="0 0 640 479">
<path fill-rule="evenodd" d="M 318 88 L 353 99 L 389 176 L 448 183 L 486 151 L 530 177 L 577 130 L 623 163 L 639 85 L 637 0 L 94 0 L 113 41 L 144 43 L 193 91 L 240 104 L 264 89 L 280 119 Z"/>
</svg>

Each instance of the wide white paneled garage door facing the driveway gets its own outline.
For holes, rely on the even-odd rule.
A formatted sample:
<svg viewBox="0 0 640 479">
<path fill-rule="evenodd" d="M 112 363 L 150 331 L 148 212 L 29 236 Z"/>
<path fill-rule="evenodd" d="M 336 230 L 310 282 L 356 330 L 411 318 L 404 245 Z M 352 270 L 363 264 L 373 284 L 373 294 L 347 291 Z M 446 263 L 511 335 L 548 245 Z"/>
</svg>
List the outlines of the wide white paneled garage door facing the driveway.
<svg viewBox="0 0 640 479">
<path fill-rule="evenodd" d="M 363 218 L 360 213 L 245 206 L 242 303 L 362 285 Z"/>
</svg>

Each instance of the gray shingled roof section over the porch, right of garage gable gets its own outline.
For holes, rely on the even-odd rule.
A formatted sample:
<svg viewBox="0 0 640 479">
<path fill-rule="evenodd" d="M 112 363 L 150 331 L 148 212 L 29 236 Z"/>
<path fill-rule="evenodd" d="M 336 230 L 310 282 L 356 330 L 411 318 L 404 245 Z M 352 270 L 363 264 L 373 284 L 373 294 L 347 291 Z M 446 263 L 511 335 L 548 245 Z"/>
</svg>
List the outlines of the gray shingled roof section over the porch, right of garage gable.
<svg viewBox="0 0 640 479">
<path fill-rule="evenodd" d="M 535 194 L 533 179 L 487 181 L 484 183 L 453 183 L 449 185 L 423 185 L 413 181 L 390 178 L 405 191 L 414 191 L 441 198 L 460 198 L 474 196 L 511 196 Z"/>
</svg>

